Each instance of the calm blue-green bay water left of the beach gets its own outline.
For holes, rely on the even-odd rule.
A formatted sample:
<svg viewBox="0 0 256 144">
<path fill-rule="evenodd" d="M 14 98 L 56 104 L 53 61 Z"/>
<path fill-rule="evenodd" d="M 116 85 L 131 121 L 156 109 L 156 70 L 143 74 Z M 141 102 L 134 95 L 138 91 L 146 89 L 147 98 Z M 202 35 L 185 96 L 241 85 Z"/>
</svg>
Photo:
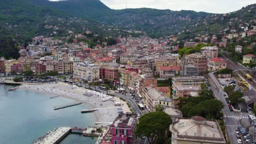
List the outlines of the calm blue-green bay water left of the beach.
<svg viewBox="0 0 256 144">
<path fill-rule="evenodd" d="M 93 125 L 92 113 L 80 113 L 87 109 L 77 105 L 66 109 L 53 110 L 54 106 L 72 103 L 73 100 L 54 95 L 17 89 L 8 92 L 13 86 L 0 85 L 0 143 L 32 143 L 49 130 L 59 127 L 87 127 Z M 71 134 L 61 144 L 95 143 L 96 137 Z"/>
</svg>

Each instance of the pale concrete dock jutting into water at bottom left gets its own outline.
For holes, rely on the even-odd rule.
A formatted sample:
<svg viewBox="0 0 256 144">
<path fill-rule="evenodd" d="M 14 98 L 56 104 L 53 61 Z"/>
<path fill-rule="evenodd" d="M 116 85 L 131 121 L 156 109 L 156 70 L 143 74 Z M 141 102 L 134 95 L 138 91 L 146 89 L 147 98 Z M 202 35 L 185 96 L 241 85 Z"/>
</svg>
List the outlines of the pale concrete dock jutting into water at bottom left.
<svg viewBox="0 0 256 144">
<path fill-rule="evenodd" d="M 71 131 L 70 127 L 61 127 L 49 131 L 43 137 L 40 137 L 36 141 L 32 142 L 33 144 L 56 144 L 62 141 Z"/>
</svg>

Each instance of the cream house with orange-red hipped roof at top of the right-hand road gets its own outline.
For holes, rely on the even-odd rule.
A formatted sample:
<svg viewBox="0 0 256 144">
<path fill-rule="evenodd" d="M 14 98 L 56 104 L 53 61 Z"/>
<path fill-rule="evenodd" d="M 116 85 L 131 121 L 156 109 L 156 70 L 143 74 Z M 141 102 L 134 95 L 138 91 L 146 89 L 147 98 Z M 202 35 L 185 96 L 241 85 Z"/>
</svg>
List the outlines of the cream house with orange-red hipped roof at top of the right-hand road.
<svg viewBox="0 0 256 144">
<path fill-rule="evenodd" d="M 213 58 L 208 62 L 208 70 L 214 71 L 219 69 L 225 69 L 226 68 L 226 62 L 223 61 L 221 58 Z"/>
</svg>

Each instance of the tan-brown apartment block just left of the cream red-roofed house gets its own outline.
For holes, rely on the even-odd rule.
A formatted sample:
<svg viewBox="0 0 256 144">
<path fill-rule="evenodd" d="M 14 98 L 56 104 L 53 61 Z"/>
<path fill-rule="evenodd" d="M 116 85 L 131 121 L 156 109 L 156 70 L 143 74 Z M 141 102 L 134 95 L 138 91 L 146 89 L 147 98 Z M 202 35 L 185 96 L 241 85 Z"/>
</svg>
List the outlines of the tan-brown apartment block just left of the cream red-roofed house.
<svg viewBox="0 0 256 144">
<path fill-rule="evenodd" d="M 193 64 L 197 67 L 199 74 L 206 73 L 207 69 L 207 57 L 201 55 L 200 53 L 193 53 L 186 59 L 187 63 Z"/>
</svg>

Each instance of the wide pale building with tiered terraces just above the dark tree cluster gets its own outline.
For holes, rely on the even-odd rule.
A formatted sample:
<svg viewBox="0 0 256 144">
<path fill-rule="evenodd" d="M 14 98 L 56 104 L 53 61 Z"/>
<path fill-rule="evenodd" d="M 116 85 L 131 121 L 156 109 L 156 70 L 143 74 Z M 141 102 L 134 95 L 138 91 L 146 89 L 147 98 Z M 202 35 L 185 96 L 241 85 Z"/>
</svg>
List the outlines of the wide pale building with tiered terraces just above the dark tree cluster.
<svg viewBox="0 0 256 144">
<path fill-rule="evenodd" d="M 173 99 L 196 97 L 200 91 L 200 86 L 205 82 L 203 76 L 173 77 L 172 97 Z"/>
</svg>

